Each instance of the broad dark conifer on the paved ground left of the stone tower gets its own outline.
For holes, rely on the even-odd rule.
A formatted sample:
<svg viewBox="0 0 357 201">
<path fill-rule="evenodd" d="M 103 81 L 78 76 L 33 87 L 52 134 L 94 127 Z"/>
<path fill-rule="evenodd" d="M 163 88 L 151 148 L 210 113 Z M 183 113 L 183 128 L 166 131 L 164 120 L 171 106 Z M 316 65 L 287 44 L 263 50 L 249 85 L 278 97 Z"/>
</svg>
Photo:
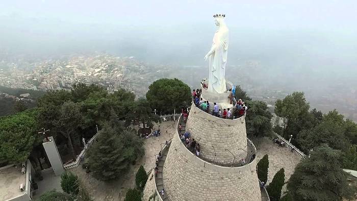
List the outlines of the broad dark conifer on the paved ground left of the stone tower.
<svg viewBox="0 0 357 201">
<path fill-rule="evenodd" d="M 113 180 L 123 174 L 130 163 L 127 158 L 133 155 L 134 149 L 125 148 L 114 129 L 106 124 L 89 149 L 90 169 L 98 180 Z"/>
</svg>

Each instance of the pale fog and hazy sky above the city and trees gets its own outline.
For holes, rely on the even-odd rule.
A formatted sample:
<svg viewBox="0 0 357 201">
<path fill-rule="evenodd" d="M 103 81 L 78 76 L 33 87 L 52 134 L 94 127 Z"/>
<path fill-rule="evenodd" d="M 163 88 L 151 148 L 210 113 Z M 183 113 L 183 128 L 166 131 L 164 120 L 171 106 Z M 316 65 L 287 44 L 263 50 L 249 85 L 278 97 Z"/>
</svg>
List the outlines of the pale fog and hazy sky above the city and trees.
<svg viewBox="0 0 357 201">
<path fill-rule="evenodd" d="M 193 86 L 191 72 L 208 74 L 212 15 L 224 13 L 228 80 L 253 97 L 303 91 L 312 107 L 357 119 L 356 10 L 356 1 L 3 1 L 0 61 L 133 56 L 175 66 L 170 77 Z"/>
</svg>

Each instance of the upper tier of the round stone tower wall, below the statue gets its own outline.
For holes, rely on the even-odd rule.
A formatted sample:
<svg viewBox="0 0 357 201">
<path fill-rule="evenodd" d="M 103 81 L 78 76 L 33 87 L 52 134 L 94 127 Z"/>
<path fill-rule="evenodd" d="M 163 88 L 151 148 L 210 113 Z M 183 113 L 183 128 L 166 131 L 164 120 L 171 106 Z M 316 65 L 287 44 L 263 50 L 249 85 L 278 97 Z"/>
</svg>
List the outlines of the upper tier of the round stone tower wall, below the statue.
<svg viewBox="0 0 357 201">
<path fill-rule="evenodd" d="M 200 144 L 201 155 L 208 160 L 231 164 L 247 156 L 247 134 L 244 116 L 238 119 L 222 119 L 191 106 L 186 130 Z M 213 147 L 214 148 L 213 148 Z M 230 150 L 228 152 L 227 150 Z M 242 150 L 243 149 L 243 150 Z M 249 153 L 250 154 L 250 153 Z"/>
</svg>

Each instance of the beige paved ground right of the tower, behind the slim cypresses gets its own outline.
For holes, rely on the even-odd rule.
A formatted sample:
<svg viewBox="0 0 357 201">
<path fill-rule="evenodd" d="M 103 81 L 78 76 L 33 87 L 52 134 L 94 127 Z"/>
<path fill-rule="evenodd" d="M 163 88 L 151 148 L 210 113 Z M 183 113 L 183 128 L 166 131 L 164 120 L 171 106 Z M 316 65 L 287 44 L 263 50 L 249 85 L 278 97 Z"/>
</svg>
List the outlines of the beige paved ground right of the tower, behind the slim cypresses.
<svg viewBox="0 0 357 201">
<path fill-rule="evenodd" d="M 294 173 L 295 166 L 300 162 L 301 158 L 292 152 L 287 147 L 279 147 L 273 143 L 269 138 L 258 138 L 252 140 L 256 147 L 258 146 L 258 161 L 263 158 L 265 154 L 269 156 L 268 168 L 268 184 L 274 178 L 274 175 L 282 167 L 285 171 L 285 182 L 287 182 Z M 286 191 L 286 185 L 283 186 L 283 192 Z"/>
</svg>

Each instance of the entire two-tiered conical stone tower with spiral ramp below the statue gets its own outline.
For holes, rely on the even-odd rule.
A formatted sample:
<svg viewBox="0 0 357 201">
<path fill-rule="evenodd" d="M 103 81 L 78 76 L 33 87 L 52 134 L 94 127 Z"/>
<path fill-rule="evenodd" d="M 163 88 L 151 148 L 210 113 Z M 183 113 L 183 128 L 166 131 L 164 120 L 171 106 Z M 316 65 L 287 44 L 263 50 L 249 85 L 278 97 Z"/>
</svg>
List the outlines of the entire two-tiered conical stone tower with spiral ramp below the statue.
<svg viewBox="0 0 357 201">
<path fill-rule="evenodd" d="M 244 118 L 221 119 L 192 105 L 187 123 L 181 115 L 174 137 L 163 147 L 159 173 L 151 173 L 152 180 L 149 175 L 143 200 L 268 200 L 259 187 L 257 160 L 251 160 L 257 150 L 246 138 Z M 180 123 L 183 131 L 177 130 Z M 181 141 L 184 131 L 200 144 L 199 157 Z"/>
</svg>

